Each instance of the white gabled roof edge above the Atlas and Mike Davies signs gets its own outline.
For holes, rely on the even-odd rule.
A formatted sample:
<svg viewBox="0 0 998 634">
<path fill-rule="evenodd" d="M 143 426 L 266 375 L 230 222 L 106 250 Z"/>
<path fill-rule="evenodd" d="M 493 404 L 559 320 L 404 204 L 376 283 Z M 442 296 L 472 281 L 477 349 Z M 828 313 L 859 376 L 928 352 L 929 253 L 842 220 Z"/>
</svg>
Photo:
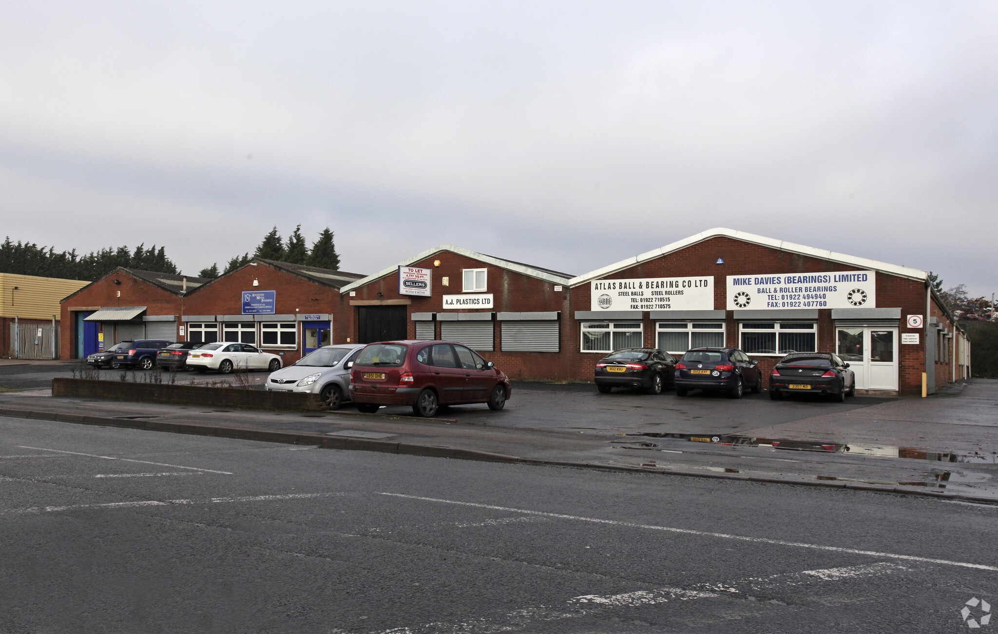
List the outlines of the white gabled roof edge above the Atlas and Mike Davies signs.
<svg viewBox="0 0 998 634">
<path fill-rule="evenodd" d="M 783 242 L 781 240 L 774 240 L 772 238 L 765 238 L 764 236 L 756 236 L 755 234 L 747 234 L 746 232 L 736 231 L 734 229 L 717 228 L 711 229 L 696 236 L 691 236 L 690 238 L 685 238 L 679 242 L 675 242 L 671 245 L 666 245 L 661 249 L 656 249 L 655 251 L 650 251 L 648 253 L 641 254 L 640 256 L 635 256 L 634 258 L 628 258 L 627 260 L 622 260 L 616 264 L 612 264 L 609 267 L 603 267 L 602 269 L 597 269 L 596 271 L 591 271 L 585 275 L 581 275 L 578 278 L 573 278 L 569 281 L 569 286 L 576 287 L 580 284 L 585 284 L 593 280 L 599 280 L 604 276 L 613 275 L 619 271 L 623 271 L 635 265 L 639 265 L 643 262 L 665 256 L 681 249 L 686 249 L 697 243 L 702 243 L 706 240 L 712 238 L 726 237 L 735 240 L 740 240 L 742 242 L 751 243 L 753 245 L 760 245 L 762 247 L 769 247 L 771 249 L 778 249 L 779 251 L 785 251 L 792 254 L 797 254 L 800 256 L 808 256 L 810 258 L 817 258 L 818 260 L 827 260 L 829 262 L 835 262 L 842 265 L 847 265 L 849 267 L 858 267 L 860 269 L 868 269 L 872 271 L 879 271 L 881 273 L 888 273 L 892 276 L 899 276 L 901 278 L 909 278 L 911 280 L 921 280 L 924 281 L 928 277 L 928 274 L 924 271 L 919 271 L 917 269 L 909 269 L 907 267 L 899 267 L 897 265 L 888 265 L 887 263 L 877 262 L 875 260 L 867 260 L 866 258 L 857 258 L 856 256 L 846 256 L 845 254 L 837 254 L 832 251 L 825 251 L 823 249 L 814 249 L 813 247 L 804 247 L 803 245 L 795 245 L 793 243 Z"/>
</svg>

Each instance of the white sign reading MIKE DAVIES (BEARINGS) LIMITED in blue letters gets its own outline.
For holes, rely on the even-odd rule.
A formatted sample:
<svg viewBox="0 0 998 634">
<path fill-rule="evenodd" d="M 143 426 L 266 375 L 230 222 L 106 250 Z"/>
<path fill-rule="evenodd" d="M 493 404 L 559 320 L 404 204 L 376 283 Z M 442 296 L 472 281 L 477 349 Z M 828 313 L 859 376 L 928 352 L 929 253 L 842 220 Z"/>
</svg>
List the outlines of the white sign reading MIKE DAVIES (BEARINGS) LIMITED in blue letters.
<svg viewBox="0 0 998 634">
<path fill-rule="evenodd" d="M 728 310 L 873 309 L 872 271 L 728 276 Z"/>
</svg>

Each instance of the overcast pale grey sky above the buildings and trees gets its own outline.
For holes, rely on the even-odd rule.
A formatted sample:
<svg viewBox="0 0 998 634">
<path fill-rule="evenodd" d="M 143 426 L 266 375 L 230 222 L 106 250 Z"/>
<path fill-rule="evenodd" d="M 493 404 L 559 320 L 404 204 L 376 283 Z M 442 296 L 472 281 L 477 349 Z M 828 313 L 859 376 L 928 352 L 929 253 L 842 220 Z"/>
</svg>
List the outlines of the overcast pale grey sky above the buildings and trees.
<svg viewBox="0 0 998 634">
<path fill-rule="evenodd" d="M 582 274 L 713 227 L 998 291 L 994 2 L 0 1 L 2 234 Z"/>
</svg>

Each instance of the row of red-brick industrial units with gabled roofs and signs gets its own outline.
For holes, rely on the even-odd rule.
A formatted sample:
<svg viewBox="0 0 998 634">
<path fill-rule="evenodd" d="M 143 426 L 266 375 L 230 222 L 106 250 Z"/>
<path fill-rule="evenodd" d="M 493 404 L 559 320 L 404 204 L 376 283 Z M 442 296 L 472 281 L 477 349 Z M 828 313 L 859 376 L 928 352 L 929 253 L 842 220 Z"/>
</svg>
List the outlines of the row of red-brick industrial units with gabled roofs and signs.
<svg viewBox="0 0 998 634">
<path fill-rule="evenodd" d="M 443 245 L 368 277 L 254 260 L 183 280 L 120 270 L 63 302 L 64 329 L 125 308 L 147 333 L 159 319 L 179 339 L 252 341 L 285 362 L 325 342 L 438 337 L 525 380 L 590 381 L 612 349 L 698 345 L 741 347 L 766 375 L 787 350 L 836 352 L 874 393 L 969 376 L 969 342 L 925 272 L 728 229 L 577 277 Z M 66 356 L 81 336 L 63 337 Z"/>
</svg>

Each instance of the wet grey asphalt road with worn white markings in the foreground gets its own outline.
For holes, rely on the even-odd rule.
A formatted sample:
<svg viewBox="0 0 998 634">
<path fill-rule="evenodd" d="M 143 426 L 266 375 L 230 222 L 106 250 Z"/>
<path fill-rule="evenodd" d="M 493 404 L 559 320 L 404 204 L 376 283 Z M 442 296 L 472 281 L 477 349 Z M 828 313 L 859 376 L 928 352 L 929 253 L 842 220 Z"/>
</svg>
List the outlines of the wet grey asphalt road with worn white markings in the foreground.
<svg viewBox="0 0 998 634">
<path fill-rule="evenodd" d="M 0 491 L 0 632 L 937 633 L 998 601 L 998 507 L 918 497 L 19 418 Z"/>
</svg>

